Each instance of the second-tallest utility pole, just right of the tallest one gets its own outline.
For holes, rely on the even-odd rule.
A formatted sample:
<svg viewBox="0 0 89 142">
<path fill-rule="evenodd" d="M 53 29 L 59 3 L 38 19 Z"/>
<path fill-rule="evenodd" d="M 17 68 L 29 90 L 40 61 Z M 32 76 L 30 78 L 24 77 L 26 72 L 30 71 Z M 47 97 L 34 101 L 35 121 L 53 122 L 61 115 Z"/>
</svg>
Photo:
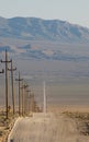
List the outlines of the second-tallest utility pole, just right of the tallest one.
<svg viewBox="0 0 89 142">
<path fill-rule="evenodd" d="M 12 104 L 13 104 L 13 115 L 14 115 L 14 87 L 13 87 L 13 71 L 16 70 L 16 68 L 13 68 L 12 59 L 11 59 L 11 69 L 8 69 L 11 71 L 11 84 L 12 84 Z"/>
</svg>

